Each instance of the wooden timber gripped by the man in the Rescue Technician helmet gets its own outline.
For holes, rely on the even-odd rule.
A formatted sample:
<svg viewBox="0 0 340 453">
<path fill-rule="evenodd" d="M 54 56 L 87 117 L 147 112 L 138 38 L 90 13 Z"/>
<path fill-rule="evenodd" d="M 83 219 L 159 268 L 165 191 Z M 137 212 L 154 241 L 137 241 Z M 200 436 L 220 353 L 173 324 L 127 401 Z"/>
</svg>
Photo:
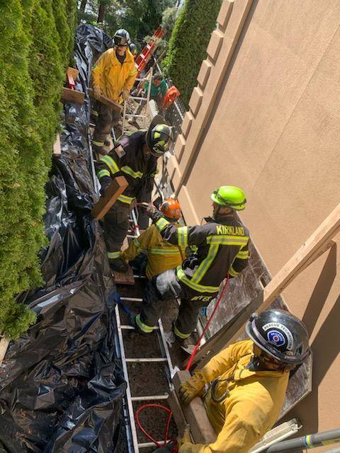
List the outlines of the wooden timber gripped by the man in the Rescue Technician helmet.
<svg viewBox="0 0 340 453">
<path fill-rule="evenodd" d="M 176 394 L 179 396 L 179 387 L 182 382 L 190 379 L 191 374 L 188 371 L 181 370 L 176 372 L 172 382 L 174 384 Z M 196 444 L 211 444 L 216 440 L 216 433 L 210 423 L 203 401 L 199 396 L 193 398 L 193 401 L 188 406 L 182 406 L 183 415 L 190 425 L 191 435 Z"/>
</svg>

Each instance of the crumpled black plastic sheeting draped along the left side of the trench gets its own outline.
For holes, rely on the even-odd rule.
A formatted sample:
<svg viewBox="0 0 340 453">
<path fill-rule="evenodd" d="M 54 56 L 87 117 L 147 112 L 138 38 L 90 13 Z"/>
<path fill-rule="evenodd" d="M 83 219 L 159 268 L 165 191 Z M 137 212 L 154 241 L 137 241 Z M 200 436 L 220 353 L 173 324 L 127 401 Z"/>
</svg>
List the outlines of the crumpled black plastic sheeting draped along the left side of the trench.
<svg viewBox="0 0 340 453">
<path fill-rule="evenodd" d="M 78 89 L 89 64 L 111 45 L 81 25 L 74 59 Z M 89 101 L 64 107 L 62 156 L 47 183 L 42 253 L 46 285 L 26 297 L 38 321 L 11 343 L 0 369 L 0 453 L 127 452 L 125 382 L 115 354 L 115 287 L 91 218 L 97 200 L 87 143 Z M 28 244 L 29 246 L 29 244 Z"/>
</svg>

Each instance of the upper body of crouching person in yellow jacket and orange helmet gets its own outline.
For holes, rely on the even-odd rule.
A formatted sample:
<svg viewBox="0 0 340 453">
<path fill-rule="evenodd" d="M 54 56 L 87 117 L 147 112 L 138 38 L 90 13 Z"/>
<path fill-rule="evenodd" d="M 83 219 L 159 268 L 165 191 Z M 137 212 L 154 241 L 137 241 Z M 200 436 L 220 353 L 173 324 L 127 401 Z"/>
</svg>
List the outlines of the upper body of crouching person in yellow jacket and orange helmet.
<svg viewBox="0 0 340 453">
<path fill-rule="evenodd" d="M 179 226 L 176 223 L 181 217 L 181 207 L 178 200 L 166 198 L 159 210 L 168 222 Z M 146 274 L 149 280 L 154 275 L 161 274 L 164 270 L 181 265 L 185 257 L 185 248 L 164 241 L 156 225 L 150 225 L 138 238 L 134 239 L 130 246 L 123 251 L 120 258 L 132 261 L 142 252 L 147 252 Z"/>
</svg>

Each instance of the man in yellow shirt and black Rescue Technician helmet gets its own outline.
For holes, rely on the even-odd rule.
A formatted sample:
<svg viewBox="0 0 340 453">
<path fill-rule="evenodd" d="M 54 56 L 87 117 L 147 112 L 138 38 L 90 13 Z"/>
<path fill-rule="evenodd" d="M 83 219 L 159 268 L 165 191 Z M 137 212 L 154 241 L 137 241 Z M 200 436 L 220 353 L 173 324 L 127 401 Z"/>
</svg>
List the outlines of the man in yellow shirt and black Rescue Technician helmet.
<svg viewBox="0 0 340 453">
<path fill-rule="evenodd" d="M 247 453 L 271 429 L 285 400 L 289 372 L 309 353 L 305 325 L 286 311 L 253 314 L 251 340 L 222 350 L 180 388 L 183 404 L 203 396 L 217 434 L 210 445 L 184 443 L 179 453 Z"/>
</svg>

